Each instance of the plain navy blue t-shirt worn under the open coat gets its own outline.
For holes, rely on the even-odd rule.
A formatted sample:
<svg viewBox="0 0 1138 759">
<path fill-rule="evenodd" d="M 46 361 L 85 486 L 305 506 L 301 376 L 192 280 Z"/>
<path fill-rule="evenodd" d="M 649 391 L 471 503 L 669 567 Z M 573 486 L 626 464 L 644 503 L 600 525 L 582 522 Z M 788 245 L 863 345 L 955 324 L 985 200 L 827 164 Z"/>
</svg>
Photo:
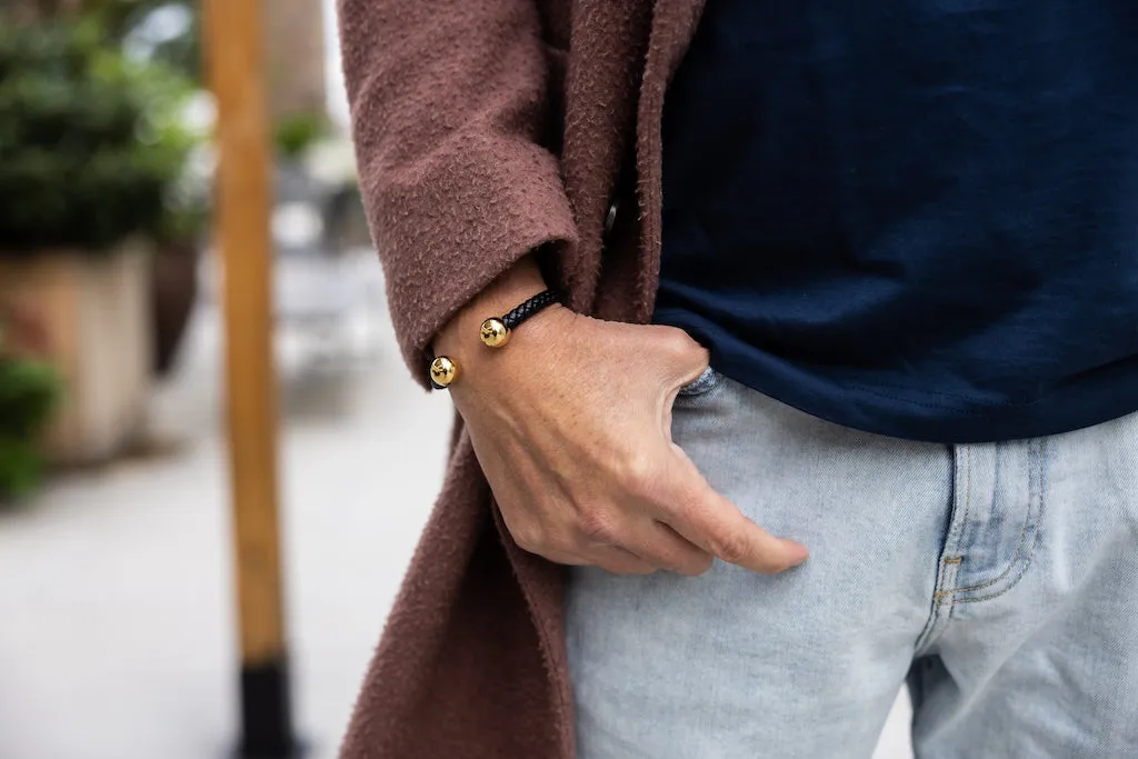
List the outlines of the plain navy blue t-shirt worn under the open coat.
<svg viewBox="0 0 1138 759">
<path fill-rule="evenodd" d="M 666 100 L 655 320 L 872 432 L 1138 410 L 1138 2 L 709 0 Z"/>
</svg>

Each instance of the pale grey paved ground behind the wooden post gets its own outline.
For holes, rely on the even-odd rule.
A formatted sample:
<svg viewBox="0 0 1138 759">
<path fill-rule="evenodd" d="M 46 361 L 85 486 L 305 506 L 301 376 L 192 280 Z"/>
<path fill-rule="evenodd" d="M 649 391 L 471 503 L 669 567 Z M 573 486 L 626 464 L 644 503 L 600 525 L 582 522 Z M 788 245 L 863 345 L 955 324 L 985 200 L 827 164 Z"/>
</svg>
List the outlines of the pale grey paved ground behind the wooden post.
<svg viewBox="0 0 1138 759">
<path fill-rule="evenodd" d="M 232 748 L 217 328 L 203 308 L 183 371 L 155 402 L 180 448 L 59 478 L 0 514 L 0 759 Z M 321 357 L 320 338 L 281 345 L 288 616 L 312 759 L 335 754 L 443 471 L 448 401 L 406 380 L 386 330 L 364 361 Z M 894 711 L 876 759 L 909 756 L 905 719 Z"/>
</svg>

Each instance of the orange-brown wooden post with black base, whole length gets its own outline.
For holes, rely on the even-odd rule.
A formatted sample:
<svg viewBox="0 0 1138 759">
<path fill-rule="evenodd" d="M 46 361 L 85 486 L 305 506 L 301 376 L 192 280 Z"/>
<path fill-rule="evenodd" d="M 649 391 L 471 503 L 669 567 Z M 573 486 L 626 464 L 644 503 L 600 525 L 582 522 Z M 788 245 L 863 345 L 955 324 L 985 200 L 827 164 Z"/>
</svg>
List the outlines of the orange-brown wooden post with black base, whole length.
<svg viewBox="0 0 1138 759">
<path fill-rule="evenodd" d="M 217 98 L 217 244 L 224 270 L 226 388 L 237 601 L 241 754 L 296 752 L 288 686 L 277 497 L 273 371 L 272 154 L 262 3 L 205 0 L 206 64 Z"/>
</svg>

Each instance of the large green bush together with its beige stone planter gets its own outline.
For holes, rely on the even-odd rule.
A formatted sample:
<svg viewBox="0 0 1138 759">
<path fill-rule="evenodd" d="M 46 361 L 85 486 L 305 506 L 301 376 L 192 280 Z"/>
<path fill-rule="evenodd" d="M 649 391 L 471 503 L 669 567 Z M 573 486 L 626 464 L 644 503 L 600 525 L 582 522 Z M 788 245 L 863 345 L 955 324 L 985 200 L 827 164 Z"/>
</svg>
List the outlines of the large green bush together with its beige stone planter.
<svg viewBox="0 0 1138 759">
<path fill-rule="evenodd" d="M 0 14 L 0 304 L 43 324 L 66 388 L 47 435 L 60 462 L 114 455 L 145 412 L 145 240 L 183 160 L 150 97 L 98 24 Z"/>
</svg>

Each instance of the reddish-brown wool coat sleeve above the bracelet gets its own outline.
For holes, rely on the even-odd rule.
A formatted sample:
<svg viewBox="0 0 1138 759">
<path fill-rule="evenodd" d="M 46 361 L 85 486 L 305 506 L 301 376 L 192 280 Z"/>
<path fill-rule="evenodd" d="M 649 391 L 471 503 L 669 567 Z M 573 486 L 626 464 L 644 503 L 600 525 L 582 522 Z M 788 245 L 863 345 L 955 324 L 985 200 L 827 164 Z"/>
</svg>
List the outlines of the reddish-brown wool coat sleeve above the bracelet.
<svg viewBox="0 0 1138 759">
<path fill-rule="evenodd" d="M 518 258 L 575 237 L 537 0 L 339 0 L 360 184 L 404 358 Z"/>
</svg>

